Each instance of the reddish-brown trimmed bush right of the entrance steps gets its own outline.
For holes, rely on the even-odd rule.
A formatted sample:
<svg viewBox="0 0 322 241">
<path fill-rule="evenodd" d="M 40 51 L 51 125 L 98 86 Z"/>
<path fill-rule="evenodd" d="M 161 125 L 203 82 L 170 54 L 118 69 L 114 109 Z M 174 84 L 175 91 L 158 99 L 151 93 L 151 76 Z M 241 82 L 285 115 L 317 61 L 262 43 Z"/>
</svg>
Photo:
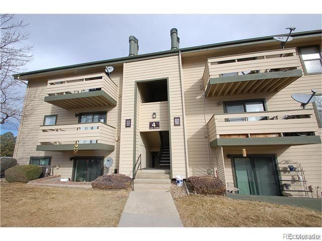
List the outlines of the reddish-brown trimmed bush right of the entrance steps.
<svg viewBox="0 0 322 241">
<path fill-rule="evenodd" d="M 194 176 L 189 177 L 188 182 L 198 194 L 223 195 L 226 192 L 225 183 L 217 177 Z"/>
</svg>

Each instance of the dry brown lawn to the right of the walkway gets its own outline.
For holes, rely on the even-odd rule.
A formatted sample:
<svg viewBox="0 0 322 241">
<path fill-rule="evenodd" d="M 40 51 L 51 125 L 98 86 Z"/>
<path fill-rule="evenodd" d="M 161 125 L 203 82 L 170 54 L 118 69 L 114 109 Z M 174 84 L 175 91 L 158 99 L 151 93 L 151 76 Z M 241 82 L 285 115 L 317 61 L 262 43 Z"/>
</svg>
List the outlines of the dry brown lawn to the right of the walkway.
<svg viewBox="0 0 322 241">
<path fill-rule="evenodd" d="M 320 227 L 321 213 L 288 205 L 221 196 L 175 198 L 185 227 Z"/>
</svg>

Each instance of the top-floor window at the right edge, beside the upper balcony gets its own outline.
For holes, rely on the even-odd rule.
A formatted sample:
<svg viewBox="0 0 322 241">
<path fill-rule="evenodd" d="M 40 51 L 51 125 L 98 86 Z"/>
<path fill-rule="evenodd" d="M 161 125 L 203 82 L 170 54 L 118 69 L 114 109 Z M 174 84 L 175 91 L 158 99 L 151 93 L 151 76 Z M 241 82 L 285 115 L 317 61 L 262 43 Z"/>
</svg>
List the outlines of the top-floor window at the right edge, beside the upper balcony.
<svg viewBox="0 0 322 241">
<path fill-rule="evenodd" d="M 322 72 L 321 53 L 317 46 L 302 47 L 300 58 L 305 74 L 316 74 Z"/>
</svg>

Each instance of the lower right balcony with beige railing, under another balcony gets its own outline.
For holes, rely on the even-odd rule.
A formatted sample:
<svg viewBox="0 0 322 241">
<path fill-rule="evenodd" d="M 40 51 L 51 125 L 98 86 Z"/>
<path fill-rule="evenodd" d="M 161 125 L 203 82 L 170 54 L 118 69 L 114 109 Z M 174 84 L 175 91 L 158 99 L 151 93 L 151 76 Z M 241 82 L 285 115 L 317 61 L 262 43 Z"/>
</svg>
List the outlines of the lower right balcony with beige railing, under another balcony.
<svg viewBox="0 0 322 241">
<path fill-rule="evenodd" d="M 207 127 L 211 147 L 321 143 L 313 109 L 214 114 Z"/>
</svg>

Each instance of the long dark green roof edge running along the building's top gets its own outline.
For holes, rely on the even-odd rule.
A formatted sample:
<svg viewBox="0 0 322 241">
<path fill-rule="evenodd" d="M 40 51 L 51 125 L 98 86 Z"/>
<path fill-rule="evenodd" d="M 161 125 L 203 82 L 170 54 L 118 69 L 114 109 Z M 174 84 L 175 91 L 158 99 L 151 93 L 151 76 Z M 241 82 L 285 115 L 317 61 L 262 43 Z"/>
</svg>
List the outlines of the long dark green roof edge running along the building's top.
<svg viewBox="0 0 322 241">
<path fill-rule="evenodd" d="M 305 32 L 299 32 L 299 33 L 292 33 L 291 36 L 293 38 L 301 38 L 308 35 L 316 35 L 320 36 L 322 34 L 322 30 L 312 30 L 312 31 L 305 31 Z M 253 43 L 258 41 L 269 41 L 274 42 L 276 40 L 273 39 L 275 36 L 285 36 L 287 34 L 280 34 L 280 35 L 273 35 L 273 36 L 266 36 L 266 37 L 258 37 L 258 38 L 251 38 L 251 39 L 244 39 L 244 40 L 234 40 L 234 41 L 228 41 L 228 42 L 222 42 L 217 44 L 208 44 L 208 45 L 201 45 L 196 47 L 188 47 L 188 48 L 182 48 L 182 49 L 176 49 L 176 50 L 167 50 L 167 51 L 160 51 L 155 53 L 149 53 L 149 54 L 142 54 L 142 55 L 136 55 L 136 56 L 128 56 L 128 57 L 122 57 L 122 58 L 115 58 L 115 59 L 107 59 L 107 60 L 101 60 L 101 61 L 94 61 L 94 62 L 87 62 L 82 64 L 74 64 L 74 65 L 67 65 L 67 66 L 61 66 L 61 67 L 55 67 L 55 68 L 48 68 L 48 69 L 42 69 L 42 70 L 36 70 L 36 71 L 30 71 L 25 73 L 19 73 L 13 75 L 15 78 L 18 76 L 27 76 L 27 75 L 33 75 L 33 74 L 40 74 L 45 72 L 51 72 L 51 71 L 58 71 L 58 70 L 64 70 L 64 69 L 73 69 L 73 68 L 80 68 L 80 67 L 90 67 L 93 65 L 103 65 L 103 64 L 112 64 L 112 63 L 124 63 L 124 62 L 130 62 L 135 61 L 136 59 L 142 59 L 142 58 L 151 58 L 153 56 L 159 56 L 159 55 L 177 55 L 179 51 L 183 52 L 191 52 L 191 51 L 203 51 L 210 48 L 220 47 L 220 46 L 228 46 L 228 45 L 236 45 L 236 44 L 245 44 L 245 43 Z M 315 37 L 315 36 L 312 36 Z"/>
</svg>

